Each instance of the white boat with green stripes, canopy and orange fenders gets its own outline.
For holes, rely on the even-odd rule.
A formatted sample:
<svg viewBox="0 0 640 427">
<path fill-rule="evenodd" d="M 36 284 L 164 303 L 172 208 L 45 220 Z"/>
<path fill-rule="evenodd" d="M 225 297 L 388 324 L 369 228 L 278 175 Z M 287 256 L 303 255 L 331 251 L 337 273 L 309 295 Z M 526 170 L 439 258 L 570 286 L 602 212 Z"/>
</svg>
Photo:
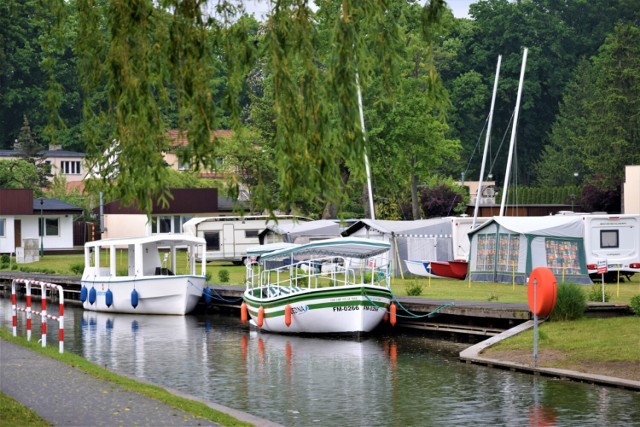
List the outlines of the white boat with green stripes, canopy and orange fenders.
<svg viewBox="0 0 640 427">
<path fill-rule="evenodd" d="M 372 331 L 392 299 L 387 242 L 318 240 L 247 252 L 244 307 L 251 324 L 279 333 Z"/>
</svg>

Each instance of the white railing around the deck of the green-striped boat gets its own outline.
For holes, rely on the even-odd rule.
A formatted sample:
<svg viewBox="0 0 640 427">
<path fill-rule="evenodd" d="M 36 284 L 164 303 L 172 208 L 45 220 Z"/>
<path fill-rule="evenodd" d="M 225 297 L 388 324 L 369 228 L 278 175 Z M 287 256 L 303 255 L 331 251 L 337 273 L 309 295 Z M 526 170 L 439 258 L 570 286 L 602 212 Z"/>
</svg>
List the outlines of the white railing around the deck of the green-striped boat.
<svg viewBox="0 0 640 427">
<path fill-rule="evenodd" d="M 389 286 L 389 263 L 382 265 L 373 260 L 354 263 L 343 257 L 314 258 L 296 261 L 275 268 L 261 269 L 258 263 L 247 265 L 248 288 L 287 287 L 291 289 L 317 289 L 349 285 Z"/>
</svg>

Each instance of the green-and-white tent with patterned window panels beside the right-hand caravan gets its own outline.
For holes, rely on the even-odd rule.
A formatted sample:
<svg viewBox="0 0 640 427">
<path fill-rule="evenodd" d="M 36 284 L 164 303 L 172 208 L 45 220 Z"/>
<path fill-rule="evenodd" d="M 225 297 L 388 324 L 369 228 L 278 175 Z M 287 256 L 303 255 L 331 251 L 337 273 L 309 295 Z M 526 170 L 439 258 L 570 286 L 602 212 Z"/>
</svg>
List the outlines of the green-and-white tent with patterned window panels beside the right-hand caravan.
<svg viewBox="0 0 640 427">
<path fill-rule="evenodd" d="M 548 267 L 558 283 L 591 284 L 583 235 L 580 217 L 493 217 L 469 232 L 470 280 L 527 283 L 531 270 Z"/>
</svg>

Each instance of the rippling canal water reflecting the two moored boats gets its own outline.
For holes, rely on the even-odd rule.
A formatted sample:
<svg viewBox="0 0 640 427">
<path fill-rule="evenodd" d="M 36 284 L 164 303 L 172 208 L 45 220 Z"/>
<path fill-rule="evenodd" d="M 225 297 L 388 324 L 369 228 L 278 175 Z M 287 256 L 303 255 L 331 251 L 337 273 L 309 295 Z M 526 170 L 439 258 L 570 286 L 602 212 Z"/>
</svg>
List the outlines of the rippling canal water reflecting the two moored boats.
<svg viewBox="0 0 640 427">
<path fill-rule="evenodd" d="M 7 298 L 0 311 L 10 329 Z M 54 324 L 47 342 L 57 347 Z M 72 305 L 64 327 L 67 352 L 286 426 L 640 425 L 640 393 L 463 364 L 463 345 L 415 335 L 282 336 L 224 315 L 104 314 Z"/>
</svg>

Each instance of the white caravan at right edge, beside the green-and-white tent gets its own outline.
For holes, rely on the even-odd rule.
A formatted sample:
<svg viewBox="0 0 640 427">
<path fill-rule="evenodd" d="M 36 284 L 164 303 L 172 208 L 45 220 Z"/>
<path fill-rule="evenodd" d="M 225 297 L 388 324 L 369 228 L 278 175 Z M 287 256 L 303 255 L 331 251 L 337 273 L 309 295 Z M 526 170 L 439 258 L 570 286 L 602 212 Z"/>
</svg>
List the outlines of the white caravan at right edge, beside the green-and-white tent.
<svg viewBox="0 0 640 427">
<path fill-rule="evenodd" d="M 600 278 L 606 265 L 605 281 L 620 276 L 627 279 L 640 273 L 640 215 L 583 215 L 587 270 Z"/>
</svg>

